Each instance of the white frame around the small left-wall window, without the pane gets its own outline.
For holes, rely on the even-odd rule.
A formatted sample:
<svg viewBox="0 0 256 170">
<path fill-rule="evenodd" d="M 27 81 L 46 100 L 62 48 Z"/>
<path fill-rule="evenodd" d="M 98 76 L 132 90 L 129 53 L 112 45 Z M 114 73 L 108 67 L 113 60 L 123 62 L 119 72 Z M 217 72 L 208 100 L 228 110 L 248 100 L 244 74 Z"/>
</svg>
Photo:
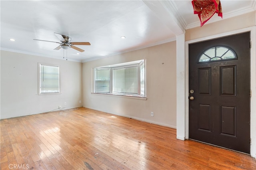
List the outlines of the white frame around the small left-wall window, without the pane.
<svg viewBox="0 0 256 170">
<path fill-rule="evenodd" d="M 58 92 L 41 93 L 41 65 L 58 67 L 58 81 L 59 81 L 59 90 L 58 90 Z M 38 95 L 56 95 L 56 94 L 61 94 L 61 92 L 60 92 L 60 65 L 49 64 L 49 63 L 39 63 L 38 62 Z"/>
</svg>

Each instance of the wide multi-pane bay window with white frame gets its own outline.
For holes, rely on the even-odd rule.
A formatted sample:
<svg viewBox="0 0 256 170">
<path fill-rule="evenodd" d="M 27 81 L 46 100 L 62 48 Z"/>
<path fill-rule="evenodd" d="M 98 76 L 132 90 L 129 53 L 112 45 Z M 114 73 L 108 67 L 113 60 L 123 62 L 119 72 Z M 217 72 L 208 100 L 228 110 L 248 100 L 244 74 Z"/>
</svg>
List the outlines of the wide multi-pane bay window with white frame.
<svg viewBox="0 0 256 170">
<path fill-rule="evenodd" d="M 145 61 L 94 68 L 94 93 L 146 97 Z"/>
</svg>

